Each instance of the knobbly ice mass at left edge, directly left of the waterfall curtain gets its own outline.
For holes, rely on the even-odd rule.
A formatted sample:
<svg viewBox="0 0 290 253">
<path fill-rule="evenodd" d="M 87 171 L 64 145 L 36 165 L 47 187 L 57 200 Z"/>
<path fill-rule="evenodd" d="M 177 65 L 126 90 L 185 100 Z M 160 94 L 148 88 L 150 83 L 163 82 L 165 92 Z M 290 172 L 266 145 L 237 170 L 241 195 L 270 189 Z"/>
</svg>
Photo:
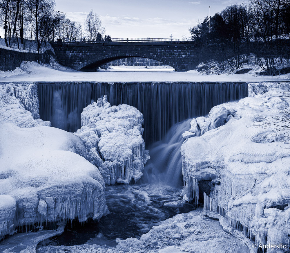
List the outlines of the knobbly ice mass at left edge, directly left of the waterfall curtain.
<svg viewBox="0 0 290 253">
<path fill-rule="evenodd" d="M 50 126 L 49 121 L 39 119 L 37 85 L 0 85 L 0 123 L 11 122 L 19 127 Z"/>
</svg>

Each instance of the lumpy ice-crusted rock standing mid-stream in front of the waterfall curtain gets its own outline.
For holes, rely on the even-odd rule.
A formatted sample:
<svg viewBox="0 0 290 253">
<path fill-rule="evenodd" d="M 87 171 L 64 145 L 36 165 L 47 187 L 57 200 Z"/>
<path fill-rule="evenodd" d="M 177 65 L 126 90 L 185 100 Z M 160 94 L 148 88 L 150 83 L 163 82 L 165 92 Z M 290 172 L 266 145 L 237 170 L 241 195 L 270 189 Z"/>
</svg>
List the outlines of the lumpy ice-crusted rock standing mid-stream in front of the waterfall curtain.
<svg viewBox="0 0 290 253">
<path fill-rule="evenodd" d="M 88 150 L 88 161 L 97 166 L 106 184 L 139 180 L 150 158 L 142 138 L 143 114 L 127 104 L 111 106 L 107 96 L 92 101 L 81 113 L 75 133 Z"/>
</svg>

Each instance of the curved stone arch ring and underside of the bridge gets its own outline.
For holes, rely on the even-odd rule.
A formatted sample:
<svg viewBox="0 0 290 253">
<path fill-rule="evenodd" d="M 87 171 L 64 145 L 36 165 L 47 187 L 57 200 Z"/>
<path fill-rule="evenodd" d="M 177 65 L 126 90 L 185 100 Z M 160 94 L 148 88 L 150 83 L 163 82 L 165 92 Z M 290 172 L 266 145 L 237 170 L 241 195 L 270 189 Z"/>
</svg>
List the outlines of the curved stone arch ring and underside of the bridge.
<svg viewBox="0 0 290 253">
<path fill-rule="evenodd" d="M 175 71 L 181 71 L 181 67 L 177 64 L 166 60 L 165 58 L 159 57 L 157 55 L 150 55 L 150 54 L 144 54 L 144 53 L 116 53 L 116 54 L 106 54 L 99 57 L 92 58 L 86 62 L 83 62 L 79 64 L 77 67 L 75 67 L 76 70 L 79 71 L 95 71 L 98 67 L 100 67 L 103 64 L 106 64 L 108 62 L 112 62 L 114 60 L 124 59 L 124 58 L 148 58 L 152 60 L 157 60 L 159 62 L 163 62 L 164 64 L 169 65 L 170 67 L 173 67 Z"/>
</svg>

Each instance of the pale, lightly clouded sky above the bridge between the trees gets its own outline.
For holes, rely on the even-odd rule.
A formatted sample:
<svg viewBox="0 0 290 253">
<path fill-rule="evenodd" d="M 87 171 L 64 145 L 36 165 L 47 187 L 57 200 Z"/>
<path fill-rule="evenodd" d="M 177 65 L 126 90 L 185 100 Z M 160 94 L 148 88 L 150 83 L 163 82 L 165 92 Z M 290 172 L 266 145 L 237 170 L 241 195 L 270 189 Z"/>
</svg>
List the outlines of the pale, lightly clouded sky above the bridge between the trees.
<svg viewBox="0 0 290 253">
<path fill-rule="evenodd" d="M 188 28 L 225 6 L 243 0 L 55 0 L 56 11 L 84 24 L 93 9 L 112 38 L 174 38 L 189 36 Z"/>
</svg>

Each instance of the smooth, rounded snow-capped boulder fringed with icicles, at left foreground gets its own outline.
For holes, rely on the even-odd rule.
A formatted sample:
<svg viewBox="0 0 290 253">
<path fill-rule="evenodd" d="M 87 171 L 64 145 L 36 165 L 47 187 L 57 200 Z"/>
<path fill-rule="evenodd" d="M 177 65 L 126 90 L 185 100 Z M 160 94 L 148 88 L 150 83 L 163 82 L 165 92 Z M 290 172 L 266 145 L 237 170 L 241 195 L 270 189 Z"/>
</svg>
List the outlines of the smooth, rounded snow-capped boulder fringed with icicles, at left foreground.
<svg viewBox="0 0 290 253">
<path fill-rule="evenodd" d="M 103 177 L 86 156 L 66 131 L 0 124 L 0 237 L 18 226 L 106 214 Z"/>
</svg>

